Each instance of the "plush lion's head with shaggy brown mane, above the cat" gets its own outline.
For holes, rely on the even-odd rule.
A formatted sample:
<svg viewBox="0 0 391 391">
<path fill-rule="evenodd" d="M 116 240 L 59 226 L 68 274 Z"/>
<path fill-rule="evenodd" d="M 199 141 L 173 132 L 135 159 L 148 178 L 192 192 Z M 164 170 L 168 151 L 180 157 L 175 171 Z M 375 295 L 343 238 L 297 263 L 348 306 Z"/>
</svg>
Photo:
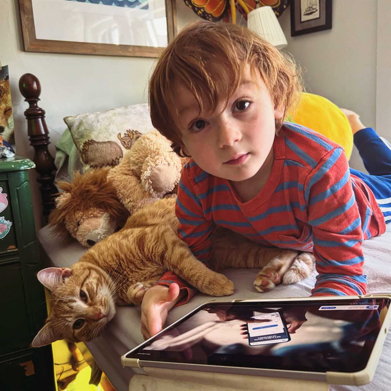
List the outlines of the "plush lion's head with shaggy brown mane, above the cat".
<svg viewBox="0 0 391 391">
<path fill-rule="evenodd" d="M 54 234 L 65 237 L 70 233 L 83 246 L 91 247 L 124 225 L 129 212 L 107 173 L 108 169 L 75 173 L 72 183 L 56 184 L 63 192 L 49 215 Z"/>
</svg>

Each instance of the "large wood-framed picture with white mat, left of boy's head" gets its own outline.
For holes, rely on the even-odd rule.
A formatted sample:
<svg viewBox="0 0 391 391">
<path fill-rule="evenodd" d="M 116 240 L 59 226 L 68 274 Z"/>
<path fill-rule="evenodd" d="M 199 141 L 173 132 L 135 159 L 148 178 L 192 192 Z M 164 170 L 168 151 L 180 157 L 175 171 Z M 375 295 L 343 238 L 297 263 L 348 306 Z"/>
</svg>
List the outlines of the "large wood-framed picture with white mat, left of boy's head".
<svg viewBox="0 0 391 391">
<path fill-rule="evenodd" d="M 19 0 L 26 52 L 158 57 L 175 0 Z"/>
</svg>

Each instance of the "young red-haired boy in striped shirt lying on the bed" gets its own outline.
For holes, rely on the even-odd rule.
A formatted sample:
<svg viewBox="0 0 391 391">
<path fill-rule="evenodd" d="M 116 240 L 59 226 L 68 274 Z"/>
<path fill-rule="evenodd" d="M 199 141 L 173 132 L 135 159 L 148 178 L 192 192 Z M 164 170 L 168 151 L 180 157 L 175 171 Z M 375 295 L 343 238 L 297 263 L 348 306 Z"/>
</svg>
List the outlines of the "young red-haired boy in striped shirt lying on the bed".
<svg viewBox="0 0 391 391">
<path fill-rule="evenodd" d="M 182 30 L 149 87 L 152 124 L 192 158 L 176 214 L 178 235 L 197 258 L 208 260 L 218 224 L 265 246 L 313 251 L 319 275 L 312 295 L 366 293 L 361 245 L 386 229 L 378 203 L 391 203 L 389 144 L 371 128 L 355 133 L 368 176 L 349 170 L 339 145 L 283 124 L 301 91 L 296 65 L 236 25 L 199 22 Z M 166 273 L 143 298 L 144 337 L 193 293 Z"/>
</svg>

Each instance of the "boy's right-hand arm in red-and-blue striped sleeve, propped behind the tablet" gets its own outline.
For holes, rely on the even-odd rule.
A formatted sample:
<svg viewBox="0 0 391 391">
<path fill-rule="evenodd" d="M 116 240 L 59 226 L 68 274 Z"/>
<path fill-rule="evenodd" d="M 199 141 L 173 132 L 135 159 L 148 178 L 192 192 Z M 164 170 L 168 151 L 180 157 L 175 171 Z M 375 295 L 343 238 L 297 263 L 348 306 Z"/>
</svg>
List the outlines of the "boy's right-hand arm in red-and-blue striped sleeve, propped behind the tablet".
<svg viewBox="0 0 391 391">
<path fill-rule="evenodd" d="M 312 296 L 366 293 L 361 217 L 352 186 L 342 148 L 328 152 L 305 181 L 308 224 L 312 226 L 319 273 Z"/>
</svg>

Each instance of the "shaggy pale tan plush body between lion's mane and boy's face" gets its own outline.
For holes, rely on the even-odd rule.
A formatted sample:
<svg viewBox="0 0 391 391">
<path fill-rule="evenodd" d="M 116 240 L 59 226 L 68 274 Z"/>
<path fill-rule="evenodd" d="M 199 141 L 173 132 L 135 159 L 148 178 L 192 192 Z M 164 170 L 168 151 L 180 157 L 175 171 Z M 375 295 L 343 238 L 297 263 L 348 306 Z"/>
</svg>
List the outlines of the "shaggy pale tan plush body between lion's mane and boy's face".
<svg viewBox="0 0 391 391">
<path fill-rule="evenodd" d="M 188 158 L 172 151 L 158 131 L 140 136 L 121 163 L 108 173 L 118 198 L 130 213 L 163 197 L 175 197 Z"/>
</svg>

